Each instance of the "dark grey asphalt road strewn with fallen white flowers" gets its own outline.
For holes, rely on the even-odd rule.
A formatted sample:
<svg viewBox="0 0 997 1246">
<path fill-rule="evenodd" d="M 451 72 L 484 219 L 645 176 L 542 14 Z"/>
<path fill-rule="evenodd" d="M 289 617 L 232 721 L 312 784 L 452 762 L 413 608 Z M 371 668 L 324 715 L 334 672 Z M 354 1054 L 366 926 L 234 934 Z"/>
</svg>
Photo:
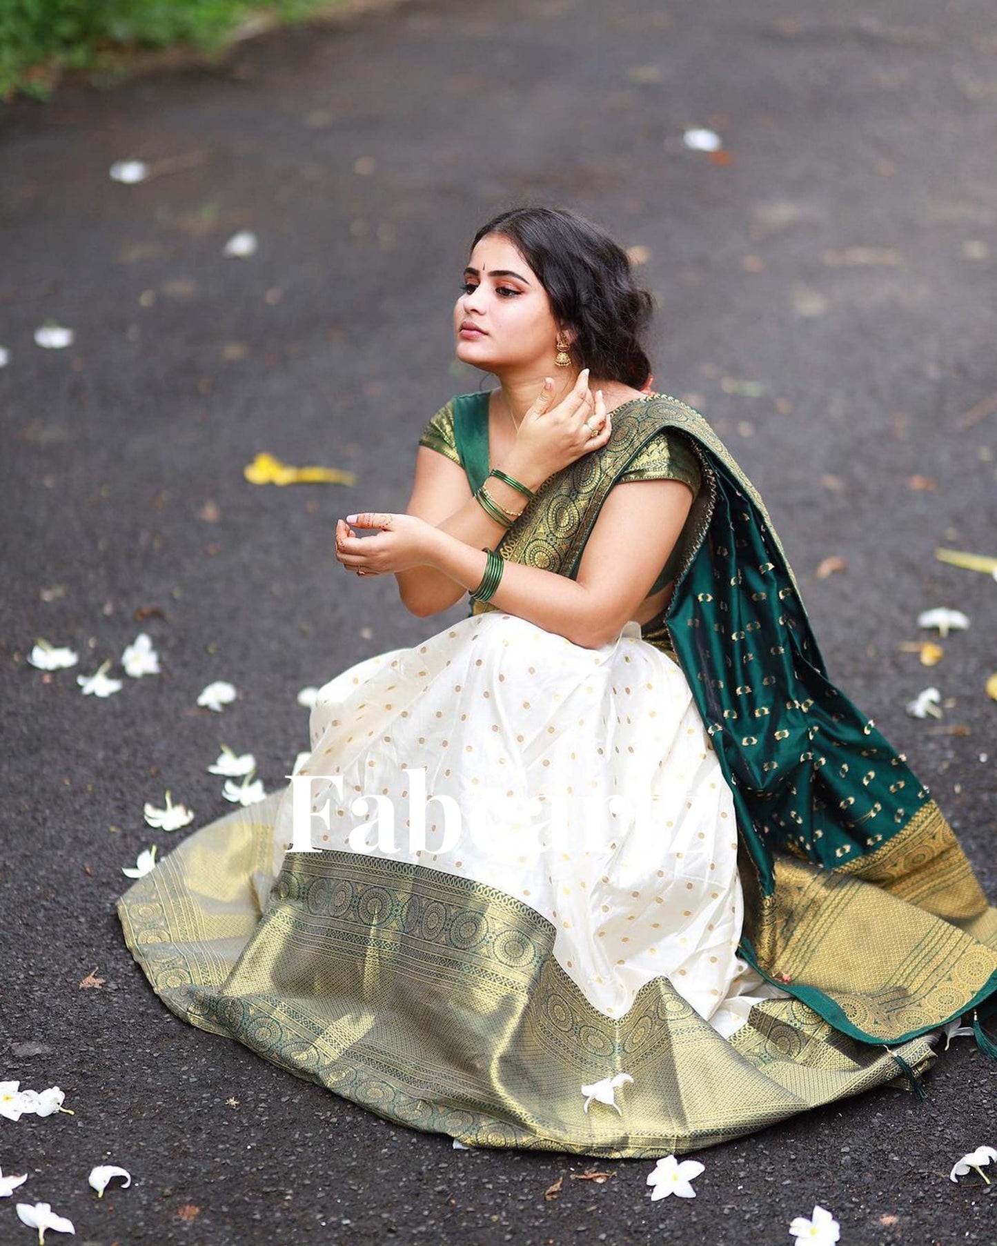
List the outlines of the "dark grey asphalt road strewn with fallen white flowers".
<svg viewBox="0 0 997 1246">
<path fill-rule="evenodd" d="M 729 158 L 684 148 L 693 126 Z M 421 0 L 0 115 L 0 1079 L 74 1110 L 1 1123 L 29 1181 L 0 1241 L 31 1240 L 24 1199 L 102 1246 L 733 1246 L 789 1242 L 815 1202 L 849 1246 L 997 1239 L 997 1182 L 948 1180 L 997 1145 L 997 1065 L 965 1039 L 926 1100 L 881 1089 L 703 1151 L 695 1200 L 651 1202 L 651 1163 L 597 1184 L 570 1179 L 584 1158 L 454 1150 L 182 1023 L 113 908 L 121 866 L 172 842 L 145 801 L 231 809 L 219 739 L 269 790 L 308 745 L 299 688 L 464 617 L 346 574 L 333 527 L 404 507 L 426 420 L 477 386 L 450 326 L 467 242 L 533 201 L 646 248 L 656 388 L 761 490 L 832 677 L 997 900 L 997 586 L 933 558 L 997 554 L 996 136 L 990 0 Z M 223 257 L 241 229 L 257 254 Z M 49 319 L 70 348 L 35 345 Z M 358 483 L 249 485 L 262 450 Z M 927 669 L 900 645 L 935 606 L 971 627 Z M 162 674 L 82 697 L 141 629 Z M 80 665 L 34 670 L 36 637 Z M 194 706 L 212 679 L 242 694 L 221 719 Z M 928 684 L 937 721 L 904 709 Z M 132 1187 L 98 1201 L 102 1163 Z"/>
</svg>

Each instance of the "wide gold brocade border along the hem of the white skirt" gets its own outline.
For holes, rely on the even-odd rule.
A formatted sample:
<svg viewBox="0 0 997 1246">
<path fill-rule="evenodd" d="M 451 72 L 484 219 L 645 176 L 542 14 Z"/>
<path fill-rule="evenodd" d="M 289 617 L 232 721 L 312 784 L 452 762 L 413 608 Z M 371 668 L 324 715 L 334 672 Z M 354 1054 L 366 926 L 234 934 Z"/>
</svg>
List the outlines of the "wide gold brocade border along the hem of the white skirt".
<svg viewBox="0 0 997 1246">
<path fill-rule="evenodd" d="M 254 807 L 121 897 L 128 947 L 177 1015 L 385 1119 L 472 1146 L 654 1158 L 897 1075 L 798 1001 L 756 1006 L 729 1042 L 658 977 L 609 1018 L 558 964 L 551 922 L 445 871 L 288 854 L 267 892 L 273 805 Z M 900 1054 L 931 1060 L 921 1039 Z M 581 1087 L 618 1072 L 633 1078 L 619 1113 L 586 1113 Z"/>
</svg>

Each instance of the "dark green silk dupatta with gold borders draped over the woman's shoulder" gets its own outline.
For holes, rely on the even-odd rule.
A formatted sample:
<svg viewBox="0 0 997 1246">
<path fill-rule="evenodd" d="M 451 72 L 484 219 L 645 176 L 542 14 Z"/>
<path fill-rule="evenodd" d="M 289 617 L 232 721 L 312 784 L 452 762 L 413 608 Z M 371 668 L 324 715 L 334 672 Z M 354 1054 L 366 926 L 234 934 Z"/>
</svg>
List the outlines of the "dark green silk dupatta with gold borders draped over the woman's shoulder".
<svg viewBox="0 0 997 1246">
<path fill-rule="evenodd" d="M 472 487 L 489 471 L 480 397 L 454 407 Z M 704 482 L 672 601 L 643 637 L 680 664 L 734 794 L 740 951 L 861 1042 L 990 1013 L 997 908 L 904 755 L 829 679 L 761 497 L 703 416 L 664 394 L 623 404 L 607 445 L 545 481 L 499 553 L 575 577 L 609 488 L 665 427 L 693 440 Z M 976 1034 L 992 1052 L 978 1019 Z"/>
</svg>

